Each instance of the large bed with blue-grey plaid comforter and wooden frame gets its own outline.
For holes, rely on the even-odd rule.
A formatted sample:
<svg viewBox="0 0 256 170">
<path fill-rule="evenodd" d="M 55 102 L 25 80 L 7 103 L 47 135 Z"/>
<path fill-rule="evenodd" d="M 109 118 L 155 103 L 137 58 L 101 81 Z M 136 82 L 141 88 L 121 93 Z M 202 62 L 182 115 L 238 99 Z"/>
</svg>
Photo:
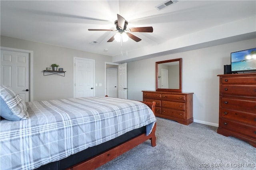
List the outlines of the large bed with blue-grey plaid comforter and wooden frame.
<svg viewBox="0 0 256 170">
<path fill-rule="evenodd" d="M 2 98 L 1 88 L 1 117 Z M 20 120 L 1 118 L 0 169 L 95 169 L 148 139 L 156 146 L 154 105 L 111 97 L 27 102 Z"/>
</svg>

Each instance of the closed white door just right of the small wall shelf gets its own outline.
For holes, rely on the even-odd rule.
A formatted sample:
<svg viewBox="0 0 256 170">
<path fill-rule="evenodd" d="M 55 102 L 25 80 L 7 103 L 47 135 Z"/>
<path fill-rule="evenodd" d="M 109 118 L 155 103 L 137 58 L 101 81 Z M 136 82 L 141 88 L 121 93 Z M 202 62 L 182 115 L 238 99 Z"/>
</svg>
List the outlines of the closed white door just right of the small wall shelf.
<svg viewBox="0 0 256 170">
<path fill-rule="evenodd" d="M 74 97 L 94 96 L 94 60 L 74 58 Z"/>
</svg>

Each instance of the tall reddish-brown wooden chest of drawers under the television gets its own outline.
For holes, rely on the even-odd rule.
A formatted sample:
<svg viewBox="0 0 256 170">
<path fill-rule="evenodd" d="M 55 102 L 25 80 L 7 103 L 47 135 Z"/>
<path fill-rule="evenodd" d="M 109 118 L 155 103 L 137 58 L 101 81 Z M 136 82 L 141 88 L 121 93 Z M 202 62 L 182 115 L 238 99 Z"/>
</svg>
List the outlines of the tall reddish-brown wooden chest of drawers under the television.
<svg viewBox="0 0 256 170">
<path fill-rule="evenodd" d="M 256 73 L 220 76 L 218 133 L 256 147 Z"/>
</svg>

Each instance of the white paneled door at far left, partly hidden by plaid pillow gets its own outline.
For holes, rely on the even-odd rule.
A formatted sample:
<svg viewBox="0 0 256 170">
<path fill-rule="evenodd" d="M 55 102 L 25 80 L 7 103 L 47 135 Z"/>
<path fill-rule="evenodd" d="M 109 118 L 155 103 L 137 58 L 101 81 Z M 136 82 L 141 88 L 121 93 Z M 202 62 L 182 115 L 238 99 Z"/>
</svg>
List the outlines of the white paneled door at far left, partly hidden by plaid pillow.
<svg viewBox="0 0 256 170">
<path fill-rule="evenodd" d="M 25 100 L 30 101 L 29 54 L 1 50 L 1 85 L 10 86 Z"/>
</svg>

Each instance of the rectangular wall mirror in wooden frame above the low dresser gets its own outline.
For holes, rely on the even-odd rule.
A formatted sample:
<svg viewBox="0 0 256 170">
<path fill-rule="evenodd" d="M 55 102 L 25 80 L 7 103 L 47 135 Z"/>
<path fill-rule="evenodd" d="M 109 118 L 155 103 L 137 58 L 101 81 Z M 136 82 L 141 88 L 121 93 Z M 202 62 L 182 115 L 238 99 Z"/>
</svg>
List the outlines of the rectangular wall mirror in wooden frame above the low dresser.
<svg viewBox="0 0 256 170">
<path fill-rule="evenodd" d="M 156 90 L 182 92 L 182 58 L 156 62 Z"/>
</svg>

